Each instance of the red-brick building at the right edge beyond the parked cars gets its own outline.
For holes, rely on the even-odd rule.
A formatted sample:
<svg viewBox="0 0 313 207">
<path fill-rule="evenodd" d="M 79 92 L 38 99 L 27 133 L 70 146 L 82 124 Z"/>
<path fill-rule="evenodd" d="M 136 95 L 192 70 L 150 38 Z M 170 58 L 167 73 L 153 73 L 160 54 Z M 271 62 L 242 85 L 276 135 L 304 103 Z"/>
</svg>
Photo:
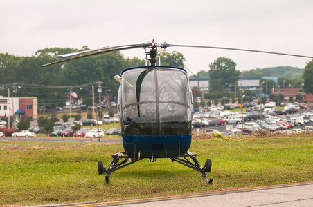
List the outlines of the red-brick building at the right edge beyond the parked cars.
<svg viewBox="0 0 313 207">
<path fill-rule="evenodd" d="M 313 95 L 303 92 L 302 88 L 272 88 L 271 95 L 283 96 L 284 103 L 289 103 L 291 97 L 293 101 L 313 103 Z"/>
</svg>

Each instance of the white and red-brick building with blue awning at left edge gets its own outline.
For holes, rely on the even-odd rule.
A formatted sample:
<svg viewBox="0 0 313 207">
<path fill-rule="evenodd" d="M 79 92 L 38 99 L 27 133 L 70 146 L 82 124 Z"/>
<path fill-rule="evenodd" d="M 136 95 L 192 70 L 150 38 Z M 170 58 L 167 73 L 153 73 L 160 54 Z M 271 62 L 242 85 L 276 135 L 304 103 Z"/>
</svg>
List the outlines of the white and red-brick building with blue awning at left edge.
<svg viewBox="0 0 313 207">
<path fill-rule="evenodd" d="M 20 120 L 21 117 L 37 119 L 37 97 L 2 97 L 0 96 L 0 116 L 12 116 Z"/>
</svg>

